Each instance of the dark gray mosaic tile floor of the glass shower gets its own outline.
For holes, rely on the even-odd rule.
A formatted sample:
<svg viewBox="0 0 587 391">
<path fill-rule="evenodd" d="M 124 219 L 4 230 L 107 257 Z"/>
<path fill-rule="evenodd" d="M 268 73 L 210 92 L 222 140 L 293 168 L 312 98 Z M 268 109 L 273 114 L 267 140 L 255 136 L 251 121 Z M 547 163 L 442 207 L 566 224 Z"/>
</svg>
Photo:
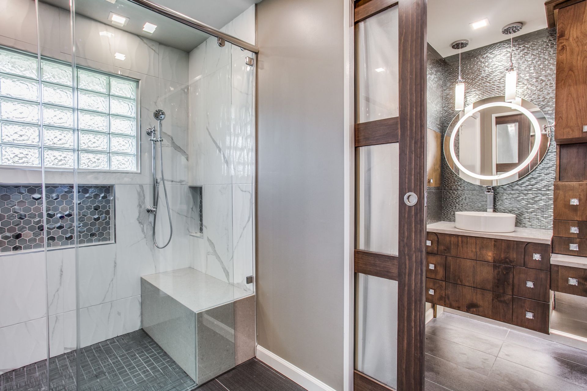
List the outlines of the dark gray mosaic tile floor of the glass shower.
<svg viewBox="0 0 587 391">
<path fill-rule="evenodd" d="M 187 391 L 195 382 L 142 329 L 81 349 L 79 390 Z M 75 352 L 49 360 L 50 391 L 75 387 Z M 0 391 L 47 388 L 45 361 L 0 375 Z"/>
</svg>

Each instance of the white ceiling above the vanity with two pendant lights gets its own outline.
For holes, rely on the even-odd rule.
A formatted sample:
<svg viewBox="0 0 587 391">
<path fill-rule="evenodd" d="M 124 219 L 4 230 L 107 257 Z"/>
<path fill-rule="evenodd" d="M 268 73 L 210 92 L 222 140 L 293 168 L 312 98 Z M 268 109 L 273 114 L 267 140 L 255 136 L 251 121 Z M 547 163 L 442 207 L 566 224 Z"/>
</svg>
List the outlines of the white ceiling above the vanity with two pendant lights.
<svg viewBox="0 0 587 391">
<path fill-rule="evenodd" d="M 473 30 L 469 23 L 488 18 L 489 25 Z M 428 0 L 428 42 L 443 57 L 458 53 L 450 44 L 468 39 L 466 50 L 509 39 L 501 28 L 522 22 L 514 36 L 546 28 L 544 0 Z"/>
</svg>

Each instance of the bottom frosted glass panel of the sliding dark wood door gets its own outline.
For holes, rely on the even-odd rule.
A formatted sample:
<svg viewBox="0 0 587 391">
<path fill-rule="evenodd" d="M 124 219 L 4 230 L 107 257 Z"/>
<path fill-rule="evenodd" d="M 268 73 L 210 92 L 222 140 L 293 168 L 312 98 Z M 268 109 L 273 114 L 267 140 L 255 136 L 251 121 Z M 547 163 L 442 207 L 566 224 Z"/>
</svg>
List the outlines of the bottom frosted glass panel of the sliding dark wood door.
<svg viewBox="0 0 587 391">
<path fill-rule="evenodd" d="M 355 369 L 397 388 L 397 281 L 356 275 Z"/>
</svg>

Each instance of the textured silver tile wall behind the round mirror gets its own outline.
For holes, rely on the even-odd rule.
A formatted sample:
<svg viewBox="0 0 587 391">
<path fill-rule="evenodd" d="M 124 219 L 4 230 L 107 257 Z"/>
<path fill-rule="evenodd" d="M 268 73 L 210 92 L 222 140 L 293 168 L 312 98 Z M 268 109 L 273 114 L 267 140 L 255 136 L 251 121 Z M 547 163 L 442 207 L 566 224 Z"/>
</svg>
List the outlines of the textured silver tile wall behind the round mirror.
<svg viewBox="0 0 587 391">
<path fill-rule="evenodd" d="M 556 30 L 543 29 L 514 38 L 514 66 L 518 70 L 518 96 L 541 108 L 549 123 L 554 122 Z M 454 83 L 458 75 L 458 55 L 446 57 L 441 68 L 443 87 L 443 135 L 453 120 Z M 462 56 L 466 83 L 465 105 L 497 95 L 505 90 L 505 70 L 510 62 L 510 41 L 470 50 Z M 429 62 L 430 67 L 430 62 Z M 430 73 L 430 69 L 429 69 Z M 429 74 L 430 80 L 430 74 Z M 429 89 L 429 94 L 431 93 Z M 431 114 L 429 96 L 429 115 Z M 434 118 L 433 117 L 429 117 Z M 458 178 L 442 158 L 442 220 L 454 221 L 459 210 L 485 210 L 484 187 Z M 552 228 L 552 192 L 555 177 L 554 135 L 541 164 L 517 182 L 495 188 L 495 211 L 515 213 L 516 226 Z M 430 198 L 429 198 L 430 199 Z M 430 212 L 429 212 L 430 214 Z"/>
</svg>

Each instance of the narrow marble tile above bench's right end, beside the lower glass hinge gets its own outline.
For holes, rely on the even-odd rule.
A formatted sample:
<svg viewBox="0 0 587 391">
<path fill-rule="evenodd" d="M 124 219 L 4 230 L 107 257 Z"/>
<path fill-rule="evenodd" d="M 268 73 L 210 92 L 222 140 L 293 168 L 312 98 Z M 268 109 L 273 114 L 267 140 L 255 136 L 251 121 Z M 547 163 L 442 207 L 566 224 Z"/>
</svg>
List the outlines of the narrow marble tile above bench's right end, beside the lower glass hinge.
<svg viewBox="0 0 587 391">
<path fill-rule="evenodd" d="M 232 248 L 234 257 L 233 283 L 252 291 L 254 284 L 247 284 L 247 276 L 254 274 L 253 258 L 253 185 L 232 185 Z"/>
</svg>

